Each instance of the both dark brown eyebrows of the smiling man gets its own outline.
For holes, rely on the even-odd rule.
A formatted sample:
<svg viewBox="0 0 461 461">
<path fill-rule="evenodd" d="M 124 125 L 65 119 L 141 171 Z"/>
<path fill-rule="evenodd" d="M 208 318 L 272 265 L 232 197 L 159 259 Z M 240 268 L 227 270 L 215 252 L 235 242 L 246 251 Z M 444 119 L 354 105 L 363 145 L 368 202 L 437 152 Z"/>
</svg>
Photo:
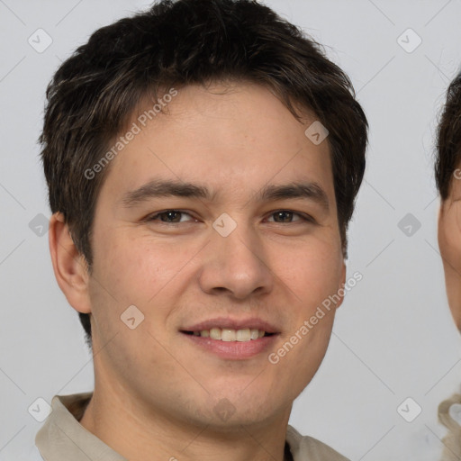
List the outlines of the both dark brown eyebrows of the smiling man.
<svg viewBox="0 0 461 461">
<path fill-rule="evenodd" d="M 131 208 L 151 198 L 176 196 L 212 201 L 214 195 L 204 185 L 194 185 L 175 180 L 152 179 L 139 188 L 123 194 L 121 203 L 125 208 Z M 258 192 L 254 200 L 268 202 L 288 198 L 312 200 L 315 203 L 319 203 L 326 212 L 330 208 L 328 195 L 320 185 L 312 182 L 266 185 Z"/>
</svg>

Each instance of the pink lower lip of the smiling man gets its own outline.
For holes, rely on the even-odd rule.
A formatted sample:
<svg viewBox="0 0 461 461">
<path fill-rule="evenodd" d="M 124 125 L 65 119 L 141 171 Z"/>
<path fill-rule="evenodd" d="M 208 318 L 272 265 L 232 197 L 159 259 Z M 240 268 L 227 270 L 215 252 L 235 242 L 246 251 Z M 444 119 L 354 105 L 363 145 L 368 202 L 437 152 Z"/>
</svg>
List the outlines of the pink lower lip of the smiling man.
<svg viewBox="0 0 461 461">
<path fill-rule="evenodd" d="M 249 341 L 221 341 L 221 339 L 203 338 L 202 336 L 188 335 L 181 333 L 185 338 L 191 340 L 199 348 L 208 350 L 218 357 L 229 360 L 242 360 L 255 357 L 270 349 L 278 336 L 263 336 Z"/>
</svg>

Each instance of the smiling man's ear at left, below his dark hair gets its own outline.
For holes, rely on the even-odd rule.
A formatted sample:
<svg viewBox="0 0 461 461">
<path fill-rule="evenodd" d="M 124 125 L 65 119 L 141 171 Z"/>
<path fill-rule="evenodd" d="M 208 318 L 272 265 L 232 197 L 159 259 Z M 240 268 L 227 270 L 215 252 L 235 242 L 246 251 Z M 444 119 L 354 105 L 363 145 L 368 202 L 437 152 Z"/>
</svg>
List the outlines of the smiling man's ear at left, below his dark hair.
<svg viewBox="0 0 461 461">
<path fill-rule="evenodd" d="M 50 218 L 49 242 L 59 288 L 77 312 L 90 313 L 86 259 L 77 251 L 61 212 L 55 212 Z"/>
</svg>

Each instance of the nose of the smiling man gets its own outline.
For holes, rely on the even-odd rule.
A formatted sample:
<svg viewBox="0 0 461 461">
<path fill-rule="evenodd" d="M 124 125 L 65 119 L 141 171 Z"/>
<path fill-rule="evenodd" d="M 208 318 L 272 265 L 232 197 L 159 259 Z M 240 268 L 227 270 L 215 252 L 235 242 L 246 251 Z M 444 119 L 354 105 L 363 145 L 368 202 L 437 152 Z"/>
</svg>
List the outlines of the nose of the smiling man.
<svg viewBox="0 0 461 461">
<path fill-rule="evenodd" d="M 206 246 L 199 284 L 206 294 L 227 294 L 244 300 L 252 294 L 268 294 L 274 285 L 264 247 L 254 230 L 237 225 L 227 237 L 212 230 Z"/>
</svg>

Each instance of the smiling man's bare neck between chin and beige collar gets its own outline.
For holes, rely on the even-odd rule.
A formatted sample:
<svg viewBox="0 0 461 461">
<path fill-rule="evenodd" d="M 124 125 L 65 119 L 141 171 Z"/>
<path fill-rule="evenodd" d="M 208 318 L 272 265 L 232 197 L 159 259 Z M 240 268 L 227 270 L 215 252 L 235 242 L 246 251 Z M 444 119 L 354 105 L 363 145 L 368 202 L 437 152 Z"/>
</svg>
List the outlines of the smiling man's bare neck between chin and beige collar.
<svg viewBox="0 0 461 461">
<path fill-rule="evenodd" d="M 147 410 L 115 379 L 95 376 L 95 392 L 80 424 L 130 461 L 284 461 L 291 407 L 265 423 L 216 429 L 204 421 Z M 104 392 L 102 391 L 104 389 Z M 123 392 L 124 391 L 124 392 Z"/>
</svg>

